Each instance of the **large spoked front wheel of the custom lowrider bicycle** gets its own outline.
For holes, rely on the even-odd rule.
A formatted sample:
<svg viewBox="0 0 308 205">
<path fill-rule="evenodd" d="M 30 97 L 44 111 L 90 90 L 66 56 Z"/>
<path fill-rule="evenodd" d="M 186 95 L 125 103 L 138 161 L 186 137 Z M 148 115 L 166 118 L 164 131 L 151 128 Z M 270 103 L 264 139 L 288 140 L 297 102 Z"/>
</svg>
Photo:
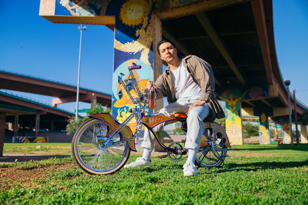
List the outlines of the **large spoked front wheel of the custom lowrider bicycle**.
<svg viewBox="0 0 308 205">
<path fill-rule="evenodd" d="M 114 173 L 124 166 L 130 154 L 130 148 L 126 142 L 117 146 L 104 147 L 101 140 L 104 137 L 101 136 L 110 132 L 110 126 L 104 124 L 99 127 L 100 124 L 101 120 L 98 119 L 87 120 L 78 128 L 72 141 L 74 160 L 83 171 L 89 174 Z M 117 142 L 123 140 L 123 136 L 119 133 L 111 140 Z"/>
</svg>

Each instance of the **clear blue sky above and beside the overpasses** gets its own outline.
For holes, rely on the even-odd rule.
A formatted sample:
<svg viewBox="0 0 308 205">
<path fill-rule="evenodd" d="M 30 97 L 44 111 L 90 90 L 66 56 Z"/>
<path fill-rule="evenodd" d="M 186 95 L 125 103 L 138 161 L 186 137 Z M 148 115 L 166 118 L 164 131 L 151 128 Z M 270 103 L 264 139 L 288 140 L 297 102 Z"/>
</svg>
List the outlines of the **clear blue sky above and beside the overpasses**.
<svg viewBox="0 0 308 205">
<path fill-rule="evenodd" d="M 39 2 L 1 2 L 0 69 L 77 85 L 79 25 L 54 24 L 40 17 Z M 291 81 L 290 90 L 308 104 L 308 1 L 274 0 L 273 14 L 280 71 Z M 105 26 L 85 26 L 80 87 L 111 94 L 114 32 Z M 14 93 L 49 104 L 53 98 Z M 74 112 L 76 103 L 58 107 Z M 82 108 L 90 104 L 80 102 Z"/>
</svg>

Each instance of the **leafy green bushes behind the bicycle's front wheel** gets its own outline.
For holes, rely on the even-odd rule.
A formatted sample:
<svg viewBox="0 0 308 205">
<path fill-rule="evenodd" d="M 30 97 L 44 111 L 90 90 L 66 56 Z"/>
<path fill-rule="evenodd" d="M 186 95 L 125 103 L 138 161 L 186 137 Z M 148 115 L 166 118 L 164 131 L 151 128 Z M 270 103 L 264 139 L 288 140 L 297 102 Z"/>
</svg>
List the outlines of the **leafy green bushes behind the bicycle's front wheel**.
<svg viewBox="0 0 308 205">
<path fill-rule="evenodd" d="M 111 113 L 111 110 L 105 106 L 102 106 L 100 103 L 96 103 L 90 110 L 86 111 L 87 116 L 84 117 L 78 117 L 77 122 L 75 120 L 75 116 L 69 118 L 67 120 L 66 125 L 66 134 L 71 135 L 76 132 L 76 130 L 82 125 L 85 121 L 89 120 L 89 115 L 95 114 L 95 113 Z"/>
</svg>

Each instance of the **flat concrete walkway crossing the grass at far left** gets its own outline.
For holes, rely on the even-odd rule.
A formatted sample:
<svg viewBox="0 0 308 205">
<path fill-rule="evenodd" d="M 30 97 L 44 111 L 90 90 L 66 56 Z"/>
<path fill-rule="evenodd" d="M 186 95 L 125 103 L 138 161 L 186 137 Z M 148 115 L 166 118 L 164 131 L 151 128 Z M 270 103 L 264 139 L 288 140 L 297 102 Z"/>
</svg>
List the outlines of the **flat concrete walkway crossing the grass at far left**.
<svg viewBox="0 0 308 205">
<path fill-rule="evenodd" d="M 15 160 L 17 160 L 17 162 L 25 162 L 25 161 L 30 161 L 30 160 L 47 160 L 51 157 L 64 158 L 64 157 L 68 157 L 68 155 L 36 155 L 36 154 L 3 153 L 3 156 L 0 157 L 0 164 L 14 163 Z"/>
</svg>

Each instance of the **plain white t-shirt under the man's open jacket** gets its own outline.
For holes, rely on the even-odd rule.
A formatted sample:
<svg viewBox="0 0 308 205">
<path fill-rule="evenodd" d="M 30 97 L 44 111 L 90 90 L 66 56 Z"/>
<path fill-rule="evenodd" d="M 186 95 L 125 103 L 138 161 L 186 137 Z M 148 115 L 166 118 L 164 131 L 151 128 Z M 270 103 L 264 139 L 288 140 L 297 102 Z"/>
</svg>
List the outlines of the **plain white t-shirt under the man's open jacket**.
<svg viewBox="0 0 308 205">
<path fill-rule="evenodd" d="M 197 85 L 193 78 L 188 73 L 187 69 L 180 61 L 180 65 L 178 69 L 171 70 L 173 75 L 175 90 L 176 90 L 176 99 L 192 99 L 192 100 L 200 100 L 201 97 L 201 89 L 199 85 Z"/>
</svg>

